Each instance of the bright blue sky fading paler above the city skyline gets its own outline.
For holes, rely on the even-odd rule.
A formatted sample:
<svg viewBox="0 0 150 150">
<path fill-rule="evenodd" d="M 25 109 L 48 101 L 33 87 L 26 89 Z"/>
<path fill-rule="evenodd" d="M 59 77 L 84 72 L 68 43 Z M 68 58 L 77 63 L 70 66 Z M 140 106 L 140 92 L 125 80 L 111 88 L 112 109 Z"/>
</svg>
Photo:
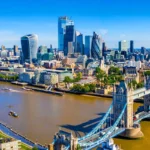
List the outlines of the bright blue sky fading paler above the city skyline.
<svg viewBox="0 0 150 150">
<path fill-rule="evenodd" d="M 20 38 L 37 34 L 39 45 L 57 47 L 59 16 L 68 16 L 83 35 L 96 31 L 108 48 L 119 40 L 150 47 L 149 0 L 1 0 L 0 45 L 21 47 Z"/>
</svg>

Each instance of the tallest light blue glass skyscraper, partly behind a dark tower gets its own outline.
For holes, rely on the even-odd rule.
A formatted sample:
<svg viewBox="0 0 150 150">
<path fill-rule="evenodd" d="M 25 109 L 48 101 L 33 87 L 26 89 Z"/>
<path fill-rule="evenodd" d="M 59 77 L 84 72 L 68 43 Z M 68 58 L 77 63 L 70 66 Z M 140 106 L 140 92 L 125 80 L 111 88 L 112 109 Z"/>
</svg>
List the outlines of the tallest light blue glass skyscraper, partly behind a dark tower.
<svg viewBox="0 0 150 150">
<path fill-rule="evenodd" d="M 74 25 L 74 22 L 66 16 L 58 18 L 58 50 L 60 51 L 64 50 L 64 35 L 67 25 Z"/>
</svg>

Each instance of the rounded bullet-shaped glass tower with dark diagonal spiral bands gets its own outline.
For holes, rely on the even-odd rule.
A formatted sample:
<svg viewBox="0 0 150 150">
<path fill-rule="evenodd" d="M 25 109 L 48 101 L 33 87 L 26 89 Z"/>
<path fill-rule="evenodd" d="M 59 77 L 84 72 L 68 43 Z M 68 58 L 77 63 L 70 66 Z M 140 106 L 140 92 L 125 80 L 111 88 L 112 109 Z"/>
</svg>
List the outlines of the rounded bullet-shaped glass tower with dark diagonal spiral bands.
<svg viewBox="0 0 150 150">
<path fill-rule="evenodd" d="M 94 32 L 92 38 L 91 56 L 96 60 L 102 58 L 101 38 Z"/>
</svg>

